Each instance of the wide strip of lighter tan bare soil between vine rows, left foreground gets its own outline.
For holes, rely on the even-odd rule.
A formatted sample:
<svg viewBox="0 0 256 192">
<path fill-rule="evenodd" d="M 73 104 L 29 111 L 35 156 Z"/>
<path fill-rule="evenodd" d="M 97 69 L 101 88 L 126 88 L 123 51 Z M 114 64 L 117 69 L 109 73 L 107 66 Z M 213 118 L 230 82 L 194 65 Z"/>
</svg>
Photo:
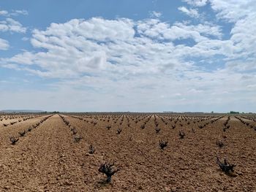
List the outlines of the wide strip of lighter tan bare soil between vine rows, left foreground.
<svg viewBox="0 0 256 192">
<path fill-rule="evenodd" d="M 83 191 L 83 172 L 68 128 L 53 115 L 1 157 L 1 191 Z"/>
</svg>

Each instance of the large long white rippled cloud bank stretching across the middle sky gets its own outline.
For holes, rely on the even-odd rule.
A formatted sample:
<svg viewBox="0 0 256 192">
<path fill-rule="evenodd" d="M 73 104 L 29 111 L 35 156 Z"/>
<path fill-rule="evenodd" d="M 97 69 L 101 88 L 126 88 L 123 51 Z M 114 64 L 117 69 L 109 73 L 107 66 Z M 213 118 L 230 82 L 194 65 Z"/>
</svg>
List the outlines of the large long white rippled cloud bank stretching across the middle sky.
<svg viewBox="0 0 256 192">
<path fill-rule="evenodd" d="M 218 50 L 207 50 L 205 42 L 214 41 L 209 36 L 219 39 L 221 35 L 219 26 L 208 24 L 175 23 L 170 26 L 158 19 L 74 19 L 67 23 L 52 23 L 45 31 L 33 31 L 31 44 L 46 51 L 2 58 L 1 64 L 16 64 L 31 73 L 53 78 L 101 72 L 154 74 L 189 66 L 184 61 L 184 55 L 189 53 L 203 52 L 203 56 L 219 53 Z M 173 44 L 176 39 L 189 38 L 198 46 Z M 218 46 L 220 49 L 222 44 Z M 182 66 L 181 61 L 184 61 Z M 31 64 L 38 68 L 30 69 Z"/>
</svg>

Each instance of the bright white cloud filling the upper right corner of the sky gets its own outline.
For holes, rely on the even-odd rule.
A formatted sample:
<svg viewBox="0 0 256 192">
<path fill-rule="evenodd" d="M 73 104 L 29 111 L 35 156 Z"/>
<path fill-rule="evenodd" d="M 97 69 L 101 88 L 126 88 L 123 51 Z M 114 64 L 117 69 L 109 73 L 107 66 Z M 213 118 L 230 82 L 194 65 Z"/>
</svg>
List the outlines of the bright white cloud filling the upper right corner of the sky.
<svg viewBox="0 0 256 192">
<path fill-rule="evenodd" d="M 256 62 L 256 1 L 211 0 L 219 20 L 233 23 L 230 42 L 233 53 L 227 66 L 232 69 L 253 69 Z M 238 64 L 239 63 L 239 64 Z M 233 66 L 233 67 L 232 67 Z"/>
</svg>

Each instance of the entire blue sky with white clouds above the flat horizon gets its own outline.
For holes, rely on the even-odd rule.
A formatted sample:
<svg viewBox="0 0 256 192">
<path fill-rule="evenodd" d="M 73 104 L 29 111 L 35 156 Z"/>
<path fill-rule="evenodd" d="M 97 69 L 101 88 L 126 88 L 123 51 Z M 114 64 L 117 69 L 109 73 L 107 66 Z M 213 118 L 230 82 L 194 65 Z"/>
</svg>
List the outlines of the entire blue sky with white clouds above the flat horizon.
<svg viewBox="0 0 256 192">
<path fill-rule="evenodd" d="M 1 0 L 0 110 L 256 112 L 255 0 Z"/>
</svg>

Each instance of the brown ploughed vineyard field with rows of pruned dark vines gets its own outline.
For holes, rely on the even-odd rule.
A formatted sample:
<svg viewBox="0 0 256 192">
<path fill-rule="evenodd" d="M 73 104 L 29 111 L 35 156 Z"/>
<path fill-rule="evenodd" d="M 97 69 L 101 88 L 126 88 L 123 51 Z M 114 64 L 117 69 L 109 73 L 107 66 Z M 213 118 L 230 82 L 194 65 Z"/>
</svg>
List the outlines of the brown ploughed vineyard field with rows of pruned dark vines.
<svg viewBox="0 0 256 192">
<path fill-rule="evenodd" d="M 83 113 L 0 120 L 0 191 L 256 191 L 255 115 Z M 159 142 L 167 146 L 161 149 Z M 222 172 L 217 157 L 236 164 L 234 172 Z M 109 183 L 98 170 L 105 162 L 118 169 Z"/>
</svg>

